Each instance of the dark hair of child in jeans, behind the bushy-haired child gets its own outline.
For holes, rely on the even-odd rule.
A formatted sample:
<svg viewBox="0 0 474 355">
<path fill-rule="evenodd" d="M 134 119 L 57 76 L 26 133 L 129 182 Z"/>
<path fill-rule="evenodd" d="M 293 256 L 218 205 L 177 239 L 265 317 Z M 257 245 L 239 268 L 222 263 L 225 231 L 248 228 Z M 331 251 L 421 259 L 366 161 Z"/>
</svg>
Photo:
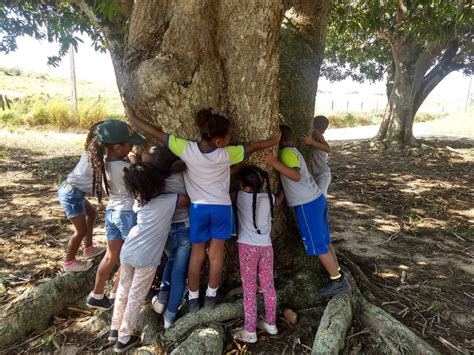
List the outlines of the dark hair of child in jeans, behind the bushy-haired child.
<svg viewBox="0 0 474 355">
<path fill-rule="evenodd" d="M 186 170 L 186 164 L 168 148 L 152 146 L 142 154 L 142 162 L 159 170 L 164 177 L 172 174 L 182 173 Z"/>
</svg>

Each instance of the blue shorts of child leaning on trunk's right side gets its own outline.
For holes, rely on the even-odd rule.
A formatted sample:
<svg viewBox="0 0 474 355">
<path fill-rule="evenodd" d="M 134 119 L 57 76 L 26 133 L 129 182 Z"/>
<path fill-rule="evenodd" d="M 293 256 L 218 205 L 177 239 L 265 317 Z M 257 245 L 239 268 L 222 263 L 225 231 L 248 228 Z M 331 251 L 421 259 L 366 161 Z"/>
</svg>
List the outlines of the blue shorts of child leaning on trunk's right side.
<svg viewBox="0 0 474 355">
<path fill-rule="evenodd" d="M 326 254 L 331 244 L 331 234 L 329 232 L 328 205 L 324 195 L 294 208 L 306 253 L 308 255 Z"/>
</svg>

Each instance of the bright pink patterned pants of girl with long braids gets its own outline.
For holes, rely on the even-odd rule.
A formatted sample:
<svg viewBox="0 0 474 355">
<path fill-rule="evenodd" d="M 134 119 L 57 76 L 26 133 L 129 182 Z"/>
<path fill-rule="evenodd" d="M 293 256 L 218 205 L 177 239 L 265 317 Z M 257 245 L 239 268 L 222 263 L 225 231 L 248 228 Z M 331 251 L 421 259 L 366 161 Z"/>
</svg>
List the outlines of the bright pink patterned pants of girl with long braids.
<svg viewBox="0 0 474 355">
<path fill-rule="evenodd" d="M 244 291 L 245 329 L 257 330 L 257 275 L 265 301 L 265 322 L 276 324 L 273 248 L 239 243 L 240 276 Z"/>
</svg>

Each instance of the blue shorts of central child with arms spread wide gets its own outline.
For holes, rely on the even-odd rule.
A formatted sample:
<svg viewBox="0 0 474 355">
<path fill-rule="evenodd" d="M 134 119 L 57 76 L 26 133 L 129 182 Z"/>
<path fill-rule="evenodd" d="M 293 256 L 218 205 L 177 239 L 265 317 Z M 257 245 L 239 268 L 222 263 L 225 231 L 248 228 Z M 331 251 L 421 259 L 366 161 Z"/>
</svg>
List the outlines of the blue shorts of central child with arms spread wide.
<svg viewBox="0 0 474 355">
<path fill-rule="evenodd" d="M 191 243 L 205 243 L 211 239 L 230 239 L 232 206 L 192 203 L 189 209 L 189 223 Z"/>
</svg>

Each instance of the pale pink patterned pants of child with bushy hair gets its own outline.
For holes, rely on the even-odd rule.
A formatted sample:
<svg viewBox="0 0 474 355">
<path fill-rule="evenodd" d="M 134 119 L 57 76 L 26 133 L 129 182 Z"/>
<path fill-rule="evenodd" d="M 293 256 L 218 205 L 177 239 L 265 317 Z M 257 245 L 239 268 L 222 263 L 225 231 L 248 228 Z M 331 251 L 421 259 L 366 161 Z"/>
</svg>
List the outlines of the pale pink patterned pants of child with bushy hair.
<svg viewBox="0 0 474 355">
<path fill-rule="evenodd" d="M 110 329 L 118 330 L 118 340 L 127 343 L 137 326 L 138 313 L 155 278 L 156 266 L 134 268 L 120 265 L 120 284 Z"/>
</svg>

